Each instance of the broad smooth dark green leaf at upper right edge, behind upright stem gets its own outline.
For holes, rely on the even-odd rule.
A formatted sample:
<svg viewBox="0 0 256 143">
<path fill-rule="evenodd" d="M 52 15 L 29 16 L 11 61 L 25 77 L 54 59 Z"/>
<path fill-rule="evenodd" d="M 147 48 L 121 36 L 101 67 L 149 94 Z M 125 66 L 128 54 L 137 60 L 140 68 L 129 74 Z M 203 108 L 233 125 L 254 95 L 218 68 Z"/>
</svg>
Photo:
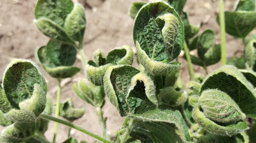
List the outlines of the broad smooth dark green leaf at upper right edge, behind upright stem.
<svg viewBox="0 0 256 143">
<path fill-rule="evenodd" d="M 226 32 L 237 38 L 245 38 L 256 27 L 256 12 L 236 11 L 225 12 Z M 219 22 L 219 16 L 217 16 Z"/>
</svg>

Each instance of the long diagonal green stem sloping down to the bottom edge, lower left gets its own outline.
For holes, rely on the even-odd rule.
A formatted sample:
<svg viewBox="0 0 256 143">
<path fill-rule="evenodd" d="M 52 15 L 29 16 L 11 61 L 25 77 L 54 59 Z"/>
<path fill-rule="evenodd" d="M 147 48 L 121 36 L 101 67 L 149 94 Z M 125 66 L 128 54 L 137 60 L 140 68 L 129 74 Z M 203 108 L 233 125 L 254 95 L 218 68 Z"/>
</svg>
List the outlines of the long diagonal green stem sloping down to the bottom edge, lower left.
<svg viewBox="0 0 256 143">
<path fill-rule="evenodd" d="M 64 125 L 67 125 L 67 126 L 69 126 L 71 128 L 75 128 L 75 129 L 77 129 L 77 130 L 79 130 L 81 132 L 84 132 L 85 134 L 88 134 L 88 135 L 90 135 L 90 136 L 92 136 L 92 137 L 94 137 L 94 138 L 96 138 L 96 139 L 98 139 L 98 140 L 100 140 L 102 142 L 111 143 L 111 141 L 108 141 L 108 140 L 106 140 L 106 139 L 104 139 L 104 138 L 102 138 L 102 137 L 100 137 L 100 136 L 98 136 L 98 135 L 96 135 L 96 134 L 94 134 L 94 133 L 92 133 L 92 132 L 90 132 L 90 131 L 82 128 L 82 127 L 80 127 L 80 126 L 78 126 L 78 125 L 70 123 L 68 121 L 64 121 L 64 120 L 52 117 L 52 116 L 47 115 L 47 114 L 40 114 L 40 117 L 48 119 L 48 120 L 52 120 L 52 121 L 55 121 L 55 122 L 58 122 L 58 123 L 61 123 L 61 124 L 64 124 Z"/>
</svg>

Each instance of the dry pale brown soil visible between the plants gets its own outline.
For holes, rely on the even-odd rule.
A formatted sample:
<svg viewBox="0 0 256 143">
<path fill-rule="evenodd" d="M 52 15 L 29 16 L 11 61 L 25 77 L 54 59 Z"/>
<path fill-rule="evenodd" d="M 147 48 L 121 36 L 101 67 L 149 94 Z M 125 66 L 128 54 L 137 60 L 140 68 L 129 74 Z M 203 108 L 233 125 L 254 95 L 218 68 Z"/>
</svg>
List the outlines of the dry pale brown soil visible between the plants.
<svg viewBox="0 0 256 143">
<path fill-rule="evenodd" d="M 98 48 L 105 53 L 122 45 L 130 45 L 135 49 L 132 39 L 134 21 L 128 15 L 129 7 L 133 2 L 138 1 L 80 0 L 80 3 L 85 6 L 87 19 L 87 29 L 84 37 L 86 60 L 92 59 L 93 51 Z M 36 1 L 31 0 L 0 0 L 0 73 L 4 73 L 6 65 L 13 58 L 31 59 L 39 64 L 34 57 L 35 50 L 40 46 L 46 45 L 49 38 L 36 29 L 33 24 L 35 3 Z M 235 0 L 224 1 L 225 10 L 232 11 L 234 3 Z M 220 28 L 215 21 L 218 13 L 218 1 L 189 0 L 185 10 L 189 13 L 189 20 L 192 24 L 201 24 L 200 32 L 208 28 L 212 29 L 216 34 L 215 43 L 220 43 Z M 226 45 L 227 57 L 243 53 L 242 41 L 239 39 L 234 40 L 233 37 L 227 34 Z M 191 53 L 195 54 L 194 51 L 191 51 Z M 189 81 L 187 62 L 182 56 L 178 60 L 182 63 L 181 79 L 187 83 Z M 220 65 L 221 63 L 218 62 L 209 66 L 209 72 L 220 67 Z M 80 60 L 76 62 L 76 66 L 82 67 Z M 53 103 L 55 103 L 57 80 L 50 77 L 42 67 L 41 70 L 48 83 L 48 94 L 52 97 Z M 194 70 L 205 74 L 204 70 L 199 66 L 194 65 Z M 0 79 L 3 79 L 2 74 L 0 75 Z M 82 78 L 85 77 L 83 72 L 80 72 L 72 79 L 63 80 L 61 101 L 71 98 L 76 107 L 84 106 L 86 110 L 84 116 L 74 121 L 74 123 L 101 135 L 94 108 L 77 97 L 71 89 L 72 84 Z M 113 137 L 115 131 L 121 128 L 124 118 L 120 117 L 117 109 L 109 103 L 107 98 L 103 111 L 104 116 L 107 117 L 107 132 Z M 53 138 L 53 127 L 54 122 L 50 122 L 49 130 L 45 134 L 49 140 Z M 62 142 L 67 138 L 69 128 L 61 124 L 58 127 L 57 142 Z M 2 129 L 3 127 L 0 128 L 0 130 Z M 95 141 L 94 138 L 73 129 L 71 130 L 71 136 L 87 142 Z"/>
</svg>

